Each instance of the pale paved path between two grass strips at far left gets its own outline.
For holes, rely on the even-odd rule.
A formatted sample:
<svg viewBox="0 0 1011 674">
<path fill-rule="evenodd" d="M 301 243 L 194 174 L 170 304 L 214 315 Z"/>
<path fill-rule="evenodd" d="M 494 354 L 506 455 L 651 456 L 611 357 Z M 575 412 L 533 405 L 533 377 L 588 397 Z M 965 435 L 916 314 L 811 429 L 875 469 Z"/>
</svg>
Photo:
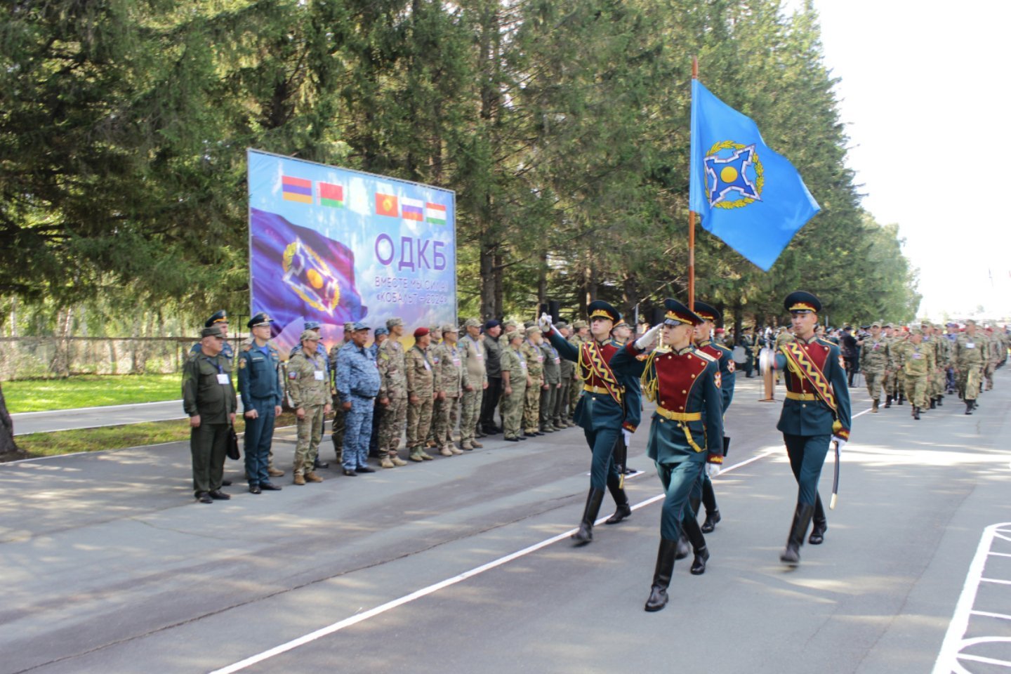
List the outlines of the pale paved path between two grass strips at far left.
<svg viewBox="0 0 1011 674">
<path fill-rule="evenodd" d="M 101 407 L 80 407 L 77 409 L 54 409 L 48 412 L 18 412 L 11 414 L 14 435 L 29 432 L 52 432 L 75 428 L 140 423 L 142 421 L 166 421 L 185 418 L 182 400 L 164 402 L 144 402 L 135 405 L 105 405 Z"/>
</svg>

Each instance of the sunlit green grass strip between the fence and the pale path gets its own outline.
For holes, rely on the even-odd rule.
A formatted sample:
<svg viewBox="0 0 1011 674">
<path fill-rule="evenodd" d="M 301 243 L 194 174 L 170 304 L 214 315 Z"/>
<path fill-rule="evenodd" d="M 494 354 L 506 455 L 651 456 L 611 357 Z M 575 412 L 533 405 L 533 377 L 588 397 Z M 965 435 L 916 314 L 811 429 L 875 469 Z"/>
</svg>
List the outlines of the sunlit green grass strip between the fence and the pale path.
<svg viewBox="0 0 1011 674">
<path fill-rule="evenodd" d="M 7 410 L 41 412 L 71 407 L 178 400 L 182 375 L 77 375 L 69 379 L 3 382 Z"/>
</svg>

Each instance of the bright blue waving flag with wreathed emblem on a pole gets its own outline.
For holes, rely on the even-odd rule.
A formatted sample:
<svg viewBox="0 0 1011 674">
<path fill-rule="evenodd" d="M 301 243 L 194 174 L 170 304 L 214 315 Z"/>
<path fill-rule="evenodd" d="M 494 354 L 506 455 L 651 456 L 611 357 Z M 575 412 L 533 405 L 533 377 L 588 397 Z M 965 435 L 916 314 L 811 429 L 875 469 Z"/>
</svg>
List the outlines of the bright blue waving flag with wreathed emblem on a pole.
<svg viewBox="0 0 1011 674">
<path fill-rule="evenodd" d="M 821 210 L 797 169 L 758 126 L 692 81 L 690 207 L 702 226 L 767 272 Z"/>
</svg>

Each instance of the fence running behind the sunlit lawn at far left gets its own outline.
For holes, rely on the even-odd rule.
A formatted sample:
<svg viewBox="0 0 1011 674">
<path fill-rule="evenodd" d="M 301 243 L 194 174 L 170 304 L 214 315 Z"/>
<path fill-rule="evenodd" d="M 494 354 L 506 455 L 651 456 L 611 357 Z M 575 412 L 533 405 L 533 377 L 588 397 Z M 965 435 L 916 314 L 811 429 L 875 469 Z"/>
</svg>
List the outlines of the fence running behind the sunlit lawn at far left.
<svg viewBox="0 0 1011 674">
<path fill-rule="evenodd" d="M 0 338 L 0 379 L 172 374 L 182 371 L 196 342 L 196 338 Z"/>
</svg>

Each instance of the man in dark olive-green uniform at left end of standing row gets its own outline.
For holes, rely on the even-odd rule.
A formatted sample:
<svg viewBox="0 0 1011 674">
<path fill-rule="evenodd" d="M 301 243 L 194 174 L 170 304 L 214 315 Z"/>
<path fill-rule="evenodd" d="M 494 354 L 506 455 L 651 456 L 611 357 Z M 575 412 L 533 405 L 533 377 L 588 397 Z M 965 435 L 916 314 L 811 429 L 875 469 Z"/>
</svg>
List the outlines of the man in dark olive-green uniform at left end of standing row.
<svg viewBox="0 0 1011 674">
<path fill-rule="evenodd" d="M 227 500 L 221 491 L 228 427 L 236 421 L 232 359 L 224 355 L 224 333 L 217 325 L 200 332 L 199 350 L 183 365 L 183 410 L 190 417 L 193 495 L 201 503 Z"/>
</svg>

